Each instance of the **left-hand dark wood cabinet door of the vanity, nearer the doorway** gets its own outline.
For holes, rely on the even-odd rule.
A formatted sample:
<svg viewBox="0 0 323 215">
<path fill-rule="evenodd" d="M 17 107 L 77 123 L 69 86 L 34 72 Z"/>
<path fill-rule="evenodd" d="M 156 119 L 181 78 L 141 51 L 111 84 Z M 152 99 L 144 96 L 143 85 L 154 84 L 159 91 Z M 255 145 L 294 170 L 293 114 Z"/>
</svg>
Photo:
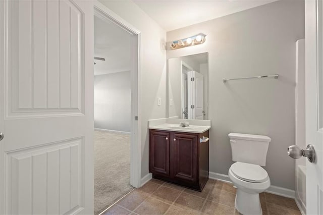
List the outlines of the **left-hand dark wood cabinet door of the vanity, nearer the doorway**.
<svg viewBox="0 0 323 215">
<path fill-rule="evenodd" d="M 149 172 L 170 175 L 170 133 L 150 131 Z"/>
</svg>

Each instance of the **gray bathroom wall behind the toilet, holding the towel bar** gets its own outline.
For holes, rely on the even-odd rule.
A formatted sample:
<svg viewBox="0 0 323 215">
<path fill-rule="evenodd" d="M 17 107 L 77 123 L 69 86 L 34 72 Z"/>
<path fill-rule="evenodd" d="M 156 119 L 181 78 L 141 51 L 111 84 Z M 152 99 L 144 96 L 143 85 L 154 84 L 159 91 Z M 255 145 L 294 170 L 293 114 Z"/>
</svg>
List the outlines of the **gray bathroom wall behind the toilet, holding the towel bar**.
<svg viewBox="0 0 323 215">
<path fill-rule="evenodd" d="M 167 58 L 209 53 L 210 171 L 228 174 L 230 132 L 272 138 L 265 169 L 272 185 L 294 189 L 295 42 L 304 38 L 304 1 L 278 1 L 167 33 L 168 42 L 197 33 L 202 45 L 168 50 Z M 279 79 L 223 83 L 223 78 L 279 74 Z"/>
</svg>

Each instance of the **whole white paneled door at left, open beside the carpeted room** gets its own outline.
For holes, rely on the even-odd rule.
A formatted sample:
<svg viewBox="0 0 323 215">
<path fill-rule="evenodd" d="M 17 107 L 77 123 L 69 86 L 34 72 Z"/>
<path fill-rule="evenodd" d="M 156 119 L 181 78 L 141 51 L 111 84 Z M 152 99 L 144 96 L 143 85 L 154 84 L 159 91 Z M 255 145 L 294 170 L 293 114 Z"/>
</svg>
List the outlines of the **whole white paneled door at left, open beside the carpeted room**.
<svg viewBox="0 0 323 215">
<path fill-rule="evenodd" d="M 0 213 L 93 213 L 93 4 L 0 1 Z"/>
</svg>

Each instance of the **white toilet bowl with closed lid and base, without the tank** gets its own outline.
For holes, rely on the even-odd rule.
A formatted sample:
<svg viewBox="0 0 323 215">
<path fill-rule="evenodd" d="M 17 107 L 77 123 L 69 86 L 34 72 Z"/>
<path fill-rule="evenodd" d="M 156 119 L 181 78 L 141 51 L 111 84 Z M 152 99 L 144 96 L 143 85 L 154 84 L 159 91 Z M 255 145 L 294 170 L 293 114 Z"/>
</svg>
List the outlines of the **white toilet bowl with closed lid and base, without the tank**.
<svg viewBox="0 0 323 215">
<path fill-rule="evenodd" d="M 259 193 L 271 185 L 267 172 L 258 165 L 236 162 L 229 169 L 229 178 L 237 187 L 236 209 L 245 215 L 261 215 Z"/>
</svg>

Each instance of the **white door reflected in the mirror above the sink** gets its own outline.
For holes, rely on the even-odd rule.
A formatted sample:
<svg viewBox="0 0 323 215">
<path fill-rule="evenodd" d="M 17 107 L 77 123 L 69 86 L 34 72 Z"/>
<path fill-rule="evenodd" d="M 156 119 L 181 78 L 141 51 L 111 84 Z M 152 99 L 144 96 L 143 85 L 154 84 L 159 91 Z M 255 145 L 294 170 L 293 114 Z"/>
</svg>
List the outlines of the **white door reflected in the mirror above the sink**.
<svg viewBox="0 0 323 215">
<path fill-rule="evenodd" d="M 190 71 L 188 74 L 188 119 L 204 119 L 204 77 L 201 73 Z"/>
</svg>

